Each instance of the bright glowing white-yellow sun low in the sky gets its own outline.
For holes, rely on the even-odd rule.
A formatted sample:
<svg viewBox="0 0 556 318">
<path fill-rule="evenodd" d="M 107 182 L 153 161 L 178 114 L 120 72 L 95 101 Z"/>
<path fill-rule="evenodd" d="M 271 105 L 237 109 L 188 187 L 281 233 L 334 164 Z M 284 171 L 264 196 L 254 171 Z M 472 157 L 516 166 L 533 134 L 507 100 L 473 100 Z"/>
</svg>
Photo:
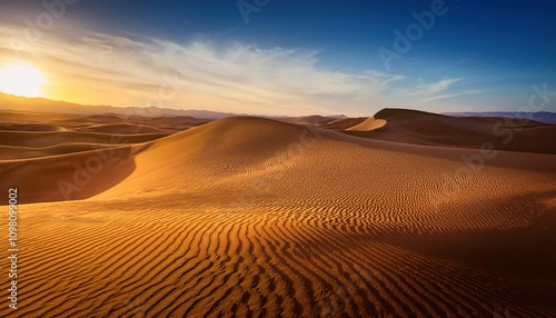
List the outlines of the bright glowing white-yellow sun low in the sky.
<svg viewBox="0 0 556 318">
<path fill-rule="evenodd" d="M 42 97 L 47 77 L 26 63 L 8 64 L 0 69 L 0 91 L 23 97 Z"/>
</svg>

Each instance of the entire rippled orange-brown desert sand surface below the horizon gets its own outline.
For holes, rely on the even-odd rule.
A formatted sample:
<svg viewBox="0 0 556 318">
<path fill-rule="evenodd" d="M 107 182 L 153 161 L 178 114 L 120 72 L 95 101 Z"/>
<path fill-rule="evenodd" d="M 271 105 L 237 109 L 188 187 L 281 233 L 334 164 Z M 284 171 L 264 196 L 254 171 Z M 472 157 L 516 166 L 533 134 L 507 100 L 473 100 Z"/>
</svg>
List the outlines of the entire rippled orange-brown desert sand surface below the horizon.
<svg viewBox="0 0 556 318">
<path fill-rule="evenodd" d="M 455 140 L 418 116 L 413 137 Z M 0 317 L 555 317 L 556 157 L 408 142 L 387 117 L 359 132 L 389 141 L 342 132 L 365 118 L 3 129 L 24 205 Z"/>
</svg>

